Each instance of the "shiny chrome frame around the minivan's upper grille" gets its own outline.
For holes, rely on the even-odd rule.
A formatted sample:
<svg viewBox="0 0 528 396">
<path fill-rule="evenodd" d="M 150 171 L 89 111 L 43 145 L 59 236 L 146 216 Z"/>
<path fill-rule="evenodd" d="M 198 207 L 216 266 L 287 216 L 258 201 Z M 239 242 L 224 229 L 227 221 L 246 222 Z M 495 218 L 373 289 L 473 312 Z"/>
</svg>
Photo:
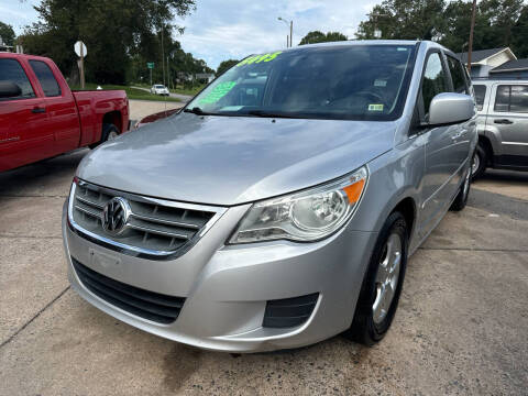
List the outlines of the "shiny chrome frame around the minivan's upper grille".
<svg viewBox="0 0 528 396">
<path fill-rule="evenodd" d="M 156 251 L 152 249 L 145 249 L 145 248 L 138 248 L 133 245 L 128 245 L 121 242 L 113 241 L 111 239 L 105 238 L 102 235 L 99 235 L 95 232 L 88 231 L 77 224 L 74 220 L 74 208 L 75 206 L 75 191 L 77 188 L 77 183 L 79 186 L 90 186 L 90 189 L 111 195 L 111 196 L 119 196 L 119 197 L 124 197 L 129 198 L 131 200 L 135 200 L 139 202 L 145 202 L 145 204 L 152 204 L 152 205 L 160 205 L 160 206 L 165 206 L 165 207 L 172 207 L 172 208 L 178 208 L 178 209 L 189 209 L 189 210 L 198 210 L 198 211 L 208 211 L 208 212 L 215 212 L 212 218 L 201 228 L 201 231 L 197 232 L 191 239 L 187 238 L 187 242 L 177 249 L 176 251 Z M 68 197 L 68 213 L 67 213 L 67 219 L 68 219 L 68 226 L 72 231 L 74 231 L 76 234 L 78 234 L 81 238 L 88 239 L 89 241 L 103 245 L 105 248 L 111 249 L 119 251 L 123 254 L 129 254 L 133 256 L 140 256 L 144 258 L 150 258 L 150 260 L 169 260 L 169 258 L 175 258 L 177 256 L 180 256 L 185 254 L 190 248 L 195 245 L 196 242 L 200 238 L 202 238 L 207 231 L 211 229 L 211 227 L 222 217 L 222 215 L 228 210 L 227 208 L 222 207 L 216 207 L 216 206 L 207 206 L 207 205 L 195 205 L 195 204 L 186 204 L 186 202 L 177 202 L 177 201 L 169 201 L 165 199 L 158 199 L 158 198 L 151 198 L 151 197 L 145 197 L 141 195 L 134 195 L 130 193 L 124 193 L 124 191 L 119 191 L 119 190 L 112 190 L 107 187 L 101 187 L 98 185 L 94 185 L 91 183 L 87 183 L 81 179 L 77 179 L 77 183 L 74 180 L 72 184 L 72 188 L 69 191 L 69 197 Z M 82 210 L 82 209 L 81 209 Z"/>
</svg>

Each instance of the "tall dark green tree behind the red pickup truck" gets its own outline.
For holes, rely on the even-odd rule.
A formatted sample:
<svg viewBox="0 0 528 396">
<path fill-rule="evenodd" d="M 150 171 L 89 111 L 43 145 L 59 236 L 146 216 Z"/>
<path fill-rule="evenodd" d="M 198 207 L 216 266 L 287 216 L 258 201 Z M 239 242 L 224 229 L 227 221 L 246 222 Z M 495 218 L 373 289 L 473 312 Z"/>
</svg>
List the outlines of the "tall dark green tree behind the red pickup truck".
<svg viewBox="0 0 528 396">
<path fill-rule="evenodd" d="M 138 74 L 134 61 L 162 62 L 162 29 L 164 48 L 174 44 L 173 26 L 164 21 L 189 13 L 194 4 L 194 0 L 43 0 L 34 7 L 40 22 L 28 26 L 20 41 L 28 53 L 53 58 L 68 75 L 77 70 L 73 45 L 82 40 L 88 47 L 87 80 L 123 84 Z"/>
</svg>

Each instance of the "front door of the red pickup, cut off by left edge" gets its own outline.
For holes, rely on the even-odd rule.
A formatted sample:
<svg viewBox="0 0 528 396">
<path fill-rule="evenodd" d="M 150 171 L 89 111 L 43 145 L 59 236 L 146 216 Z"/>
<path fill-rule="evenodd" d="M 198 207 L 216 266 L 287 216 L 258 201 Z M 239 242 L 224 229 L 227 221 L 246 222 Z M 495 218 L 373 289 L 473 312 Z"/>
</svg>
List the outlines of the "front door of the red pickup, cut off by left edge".
<svg viewBox="0 0 528 396">
<path fill-rule="evenodd" d="M 21 95 L 0 99 L 0 170 L 50 156 L 53 134 L 42 133 L 43 101 L 36 95 L 22 64 L 0 57 L 0 80 L 16 84 Z"/>
</svg>

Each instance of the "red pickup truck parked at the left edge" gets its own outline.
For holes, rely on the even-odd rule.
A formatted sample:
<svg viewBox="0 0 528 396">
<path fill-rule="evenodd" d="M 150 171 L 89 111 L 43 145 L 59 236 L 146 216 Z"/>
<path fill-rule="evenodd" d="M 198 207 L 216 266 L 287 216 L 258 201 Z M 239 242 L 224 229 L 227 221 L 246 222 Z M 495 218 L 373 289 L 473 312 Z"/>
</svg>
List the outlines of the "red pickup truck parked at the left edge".
<svg viewBox="0 0 528 396">
<path fill-rule="evenodd" d="M 129 130 L 122 90 L 72 91 L 53 61 L 0 53 L 0 172 Z"/>
</svg>

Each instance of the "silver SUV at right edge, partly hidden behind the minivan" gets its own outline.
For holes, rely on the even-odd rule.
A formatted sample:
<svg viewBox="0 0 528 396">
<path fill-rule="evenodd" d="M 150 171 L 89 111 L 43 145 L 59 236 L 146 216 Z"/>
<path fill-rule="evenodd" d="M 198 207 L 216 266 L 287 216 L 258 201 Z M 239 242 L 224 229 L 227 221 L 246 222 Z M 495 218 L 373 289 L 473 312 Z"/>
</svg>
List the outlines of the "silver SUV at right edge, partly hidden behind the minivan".
<svg viewBox="0 0 528 396">
<path fill-rule="evenodd" d="M 528 170 L 528 81 L 476 80 L 479 145 L 473 177 L 486 167 Z"/>
</svg>

